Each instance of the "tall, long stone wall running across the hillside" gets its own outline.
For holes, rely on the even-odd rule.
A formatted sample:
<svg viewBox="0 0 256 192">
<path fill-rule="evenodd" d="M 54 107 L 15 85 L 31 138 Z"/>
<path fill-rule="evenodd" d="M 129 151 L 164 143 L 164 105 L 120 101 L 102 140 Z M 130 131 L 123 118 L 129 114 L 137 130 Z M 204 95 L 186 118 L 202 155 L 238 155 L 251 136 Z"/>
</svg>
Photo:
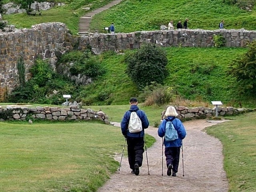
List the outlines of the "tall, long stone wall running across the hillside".
<svg viewBox="0 0 256 192">
<path fill-rule="evenodd" d="M 17 61 L 20 57 L 24 58 L 26 79 L 29 79 L 29 70 L 36 58 L 48 59 L 55 70 L 58 56 L 74 48 L 83 50 L 91 46 L 92 51 L 99 54 L 106 50 L 140 48 L 144 42 L 164 47 L 212 47 L 215 34 L 222 34 L 228 47 L 243 47 L 256 38 L 256 31 L 190 29 L 72 36 L 65 24 L 58 22 L 0 32 L 0 87 L 11 92 L 19 84 Z M 0 92 L 0 99 L 4 94 Z"/>
</svg>

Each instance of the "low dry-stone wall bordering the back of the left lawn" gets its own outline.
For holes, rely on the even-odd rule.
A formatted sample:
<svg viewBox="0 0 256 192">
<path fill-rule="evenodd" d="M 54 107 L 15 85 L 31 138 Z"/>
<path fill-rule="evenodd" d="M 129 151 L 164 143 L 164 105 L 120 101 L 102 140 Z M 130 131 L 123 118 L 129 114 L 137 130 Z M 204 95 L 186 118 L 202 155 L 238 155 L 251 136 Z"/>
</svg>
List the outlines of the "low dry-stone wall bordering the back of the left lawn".
<svg viewBox="0 0 256 192">
<path fill-rule="evenodd" d="M 108 116 L 102 111 L 80 109 L 77 106 L 60 107 L 0 107 L 0 120 L 26 120 L 26 118 L 41 120 L 100 120 L 109 123 Z"/>
</svg>

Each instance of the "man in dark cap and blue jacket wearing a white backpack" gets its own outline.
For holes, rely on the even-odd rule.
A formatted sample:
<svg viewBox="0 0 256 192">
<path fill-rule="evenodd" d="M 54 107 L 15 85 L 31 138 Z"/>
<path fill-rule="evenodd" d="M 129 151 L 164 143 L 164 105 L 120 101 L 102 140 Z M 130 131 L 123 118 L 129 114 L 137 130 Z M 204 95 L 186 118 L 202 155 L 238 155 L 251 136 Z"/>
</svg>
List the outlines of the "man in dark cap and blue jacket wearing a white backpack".
<svg viewBox="0 0 256 192">
<path fill-rule="evenodd" d="M 144 111 L 138 108 L 136 98 L 130 98 L 130 110 L 126 111 L 121 122 L 121 131 L 127 141 L 128 162 L 132 174 L 139 175 L 139 167 L 142 166 L 144 153 L 144 129 L 148 128 L 149 122 Z M 130 133 L 128 130 L 131 112 L 136 112 L 142 123 L 142 131 Z"/>
</svg>

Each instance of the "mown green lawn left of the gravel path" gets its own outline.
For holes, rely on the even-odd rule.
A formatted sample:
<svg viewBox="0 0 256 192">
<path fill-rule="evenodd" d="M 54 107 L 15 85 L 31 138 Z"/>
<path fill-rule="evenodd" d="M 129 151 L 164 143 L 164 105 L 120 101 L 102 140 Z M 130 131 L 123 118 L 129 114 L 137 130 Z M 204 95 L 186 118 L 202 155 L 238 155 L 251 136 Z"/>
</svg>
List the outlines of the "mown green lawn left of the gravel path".
<svg viewBox="0 0 256 192">
<path fill-rule="evenodd" d="M 123 142 L 120 128 L 96 122 L 0 122 L 0 191 L 96 191 Z"/>
</svg>

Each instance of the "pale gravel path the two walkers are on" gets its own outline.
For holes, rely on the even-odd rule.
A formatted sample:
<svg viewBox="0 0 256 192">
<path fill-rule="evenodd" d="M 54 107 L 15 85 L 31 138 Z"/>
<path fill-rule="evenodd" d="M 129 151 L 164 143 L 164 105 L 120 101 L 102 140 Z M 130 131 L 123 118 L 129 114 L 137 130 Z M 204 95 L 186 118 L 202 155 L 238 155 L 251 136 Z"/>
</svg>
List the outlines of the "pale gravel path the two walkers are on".
<svg viewBox="0 0 256 192">
<path fill-rule="evenodd" d="M 150 126 L 146 129 L 146 133 L 156 138 L 156 143 L 147 148 L 150 175 L 148 175 L 146 152 L 139 176 L 130 173 L 128 158 L 123 157 L 120 171 L 113 174 L 98 192 L 227 192 L 228 180 L 223 169 L 222 144 L 218 139 L 202 131 L 220 122 L 223 121 L 184 122 L 187 131 L 183 141 L 184 177 L 181 158 L 177 177 L 166 175 L 164 158 L 164 176 L 162 176 L 162 138 L 158 137 L 157 128 Z M 120 126 L 120 123 L 115 123 L 115 126 Z M 121 154 L 118 154 L 116 160 L 120 162 L 120 158 Z"/>
</svg>

